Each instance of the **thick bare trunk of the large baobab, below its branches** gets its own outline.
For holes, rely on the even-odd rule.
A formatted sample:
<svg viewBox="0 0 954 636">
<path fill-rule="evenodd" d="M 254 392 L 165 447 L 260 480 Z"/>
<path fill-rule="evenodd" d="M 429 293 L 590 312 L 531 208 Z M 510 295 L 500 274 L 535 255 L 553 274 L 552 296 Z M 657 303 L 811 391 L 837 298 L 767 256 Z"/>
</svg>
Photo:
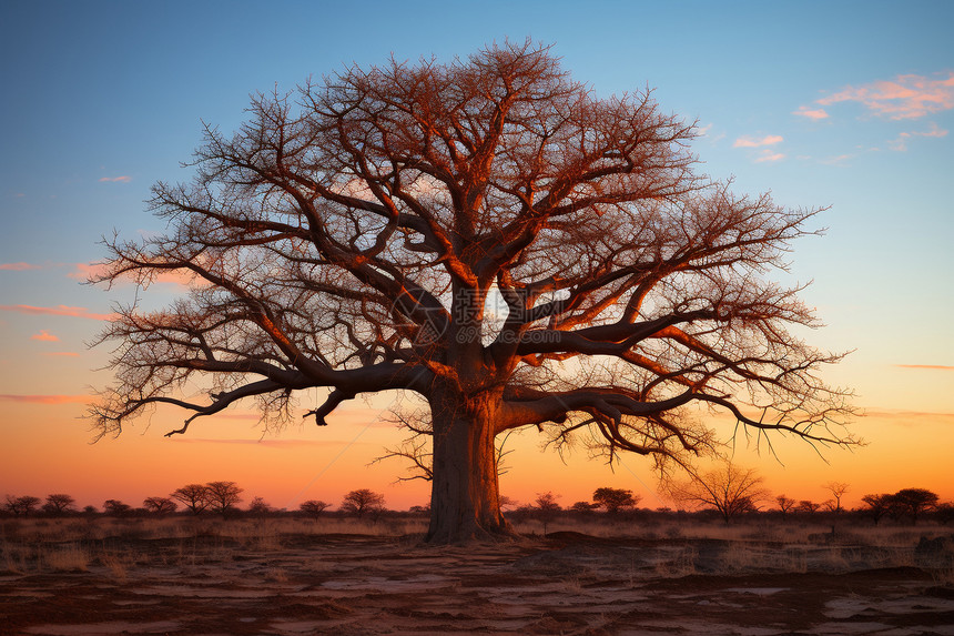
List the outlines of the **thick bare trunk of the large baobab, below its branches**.
<svg viewBox="0 0 954 636">
<path fill-rule="evenodd" d="M 500 514 L 495 447 L 499 396 L 443 393 L 430 397 L 434 481 L 429 543 L 514 536 Z"/>
</svg>

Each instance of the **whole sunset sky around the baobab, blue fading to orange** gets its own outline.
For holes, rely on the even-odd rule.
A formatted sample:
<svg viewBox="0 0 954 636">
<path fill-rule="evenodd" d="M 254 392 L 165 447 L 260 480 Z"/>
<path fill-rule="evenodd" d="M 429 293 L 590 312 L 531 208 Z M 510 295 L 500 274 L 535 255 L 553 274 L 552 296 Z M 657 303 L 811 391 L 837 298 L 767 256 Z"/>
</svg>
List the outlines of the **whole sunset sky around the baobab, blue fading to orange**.
<svg viewBox="0 0 954 636">
<path fill-rule="evenodd" d="M 254 413 L 199 420 L 160 410 L 90 444 L 80 418 L 110 382 L 109 346 L 89 349 L 114 302 L 82 284 L 98 244 L 163 230 L 143 200 L 186 181 L 202 121 L 231 132 L 254 91 L 294 89 L 389 55 L 448 61 L 510 40 L 551 43 L 599 95 L 654 89 L 663 111 L 697 120 L 700 171 L 735 191 L 771 190 L 792 208 L 830 206 L 823 238 L 795 244 L 786 282 L 826 327 L 806 335 L 853 351 L 828 378 L 854 387 L 867 446 L 815 450 L 745 440 L 735 460 L 774 494 L 821 502 L 848 482 L 862 495 L 927 487 L 954 498 L 954 2 L 48 2 L 0 6 L 0 497 L 72 494 L 133 506 L 192 482 L 233 479 L 246 502 L 337 504 L 371 487 L 393 508 L 428 499 L 394 485 L 404 465 L 368 466 L 402 435 L 383 421 L 394 395 L 355 401 L 281 434 Z M 148 306 L 174 280 L 139 292 Z M 302 396 L 304 412 L 321 402 Z M 728 436 L 731 422 L 720 422 Z M 514 436 L 504 494 L 552 491 L 561 504 L 599 486 L 663 505 L 647 460 L 612 470 L 580 448 L 560 458 Z"/>
</svg>

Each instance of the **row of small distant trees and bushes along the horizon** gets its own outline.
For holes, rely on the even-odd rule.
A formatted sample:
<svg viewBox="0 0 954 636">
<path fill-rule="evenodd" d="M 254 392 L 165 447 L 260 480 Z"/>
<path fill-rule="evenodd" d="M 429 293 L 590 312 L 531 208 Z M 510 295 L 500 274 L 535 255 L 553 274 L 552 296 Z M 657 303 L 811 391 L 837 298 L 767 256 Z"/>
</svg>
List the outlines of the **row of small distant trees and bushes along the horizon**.
<svg viewBox="0 0 954 636">
<path fill-rule="evenodd" d="M 810 499 L 794 499 L 784 494 L 769 495 L 761 487 L 762 478 L 754 471 L 743 471 L 728 465 L 709 473 L 693 475 L 691 479 L 672 484 L 669 495 L 673 502 L 694 509 L 697 513 L 713 514 L 725 523 L 744 515 L 779 515 L 782 519 L 789 517 L 801 517 L 813 519 L 820 514 L 844 515 L 852 514 L 857 518 L 867 518 L 875 525 L 889 518 L 895 523 L 917 524 L 931 515 L 937 522 L 946 524 L 954 521 L 954 503 L 941 503 L 936 493 L 926 488 L 903 488 L 893 494 L 864 495 L 861 501 L 863 505 L 853 511 L 845 511 L 842 506 L 842 497 L 849 492 L 849 485 L 840 482 L 831 482 L 823 487 L 832 493 L 832 498 L 822 503 Z M 151 515 L 164 516 L 174 513 L 200 515 L 214 513 L 222 516 L 244 512 L 253 515 L 270 514 L 301 514 L 313 519 L 332 511 L 333 505 L 321 499 L 307 499 L 298 505 L 297 511 L 290 512 L 275 509 L 262 497 L 254 497 L 245 511 L 241 511 L 244 489 L 235 482 L 207 482 L 205 484 L 186 484 L 176 488 L 168 496 L 151 496 L 142 502 L 142 506 L 133 508 L 119 499 L 106 499 L 103 502 L 102 514 L 110 516 Z M 586 516 L 601 512 L 608 518 L 618 517 L 623 514 L 637 512 L 647 513 L 652 511 L 640 511 L 637 506 L 642 501 L 632 491 L 612 487 L 599 487 L 593 491 L 591 501 L 576 502 L 564 507 L 557 499 L 559 494 L 552 492 L 538 493 L 532 503 L 519 504 L 514 499 L 503 496 L 500 507 L 505 514 L 515 521 L 521 518 L 534 518 L 539 521 L 547 532 L 548 525 L 557 516 Z M 337 507 L 338 515 L 355 518 L 369 518 L 375 521 L 384 513 L 388 513 L 385 497 L 369 488 L 358 488 L 348 492 Z M 670 508 L 663 507 L 654 511 L 657 513 L 671 513 Z M 79 514 L 99 514 L 94 506 L 85 506 L 82 511 L 77 508 L 75 499 L 64 493 L 47 495 L 45 499 L 30 495 L 7 495 L 0 503 L 0 514 L 13 517 L 30 516 L 68 516 Z M 408 511 L 412 515 L 426 516 L 429 506 L 412 506 Z M 687 514 L 682 512 L 680 514 Z M 835 518 L 835 517 L 831 517 Z"/>
</svg>

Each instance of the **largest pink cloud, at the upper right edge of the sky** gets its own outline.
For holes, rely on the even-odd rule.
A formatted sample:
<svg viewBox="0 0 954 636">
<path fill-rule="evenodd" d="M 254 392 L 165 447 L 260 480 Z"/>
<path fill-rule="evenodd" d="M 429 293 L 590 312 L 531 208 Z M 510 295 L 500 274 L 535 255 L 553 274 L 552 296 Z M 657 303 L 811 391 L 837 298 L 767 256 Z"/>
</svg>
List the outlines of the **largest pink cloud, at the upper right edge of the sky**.
<svg viewBox="0 0 954 636">
<path fill-rule="evenodd" d="M 916 119 L 954 109 L 954 71 L 943 79 L 923 75 L 897 75 L 860 87 L 845 87 L 833 95 L 818 100 L 822 105 L 855 101 L 877 115 L 889 119 Z"/>
</svg>

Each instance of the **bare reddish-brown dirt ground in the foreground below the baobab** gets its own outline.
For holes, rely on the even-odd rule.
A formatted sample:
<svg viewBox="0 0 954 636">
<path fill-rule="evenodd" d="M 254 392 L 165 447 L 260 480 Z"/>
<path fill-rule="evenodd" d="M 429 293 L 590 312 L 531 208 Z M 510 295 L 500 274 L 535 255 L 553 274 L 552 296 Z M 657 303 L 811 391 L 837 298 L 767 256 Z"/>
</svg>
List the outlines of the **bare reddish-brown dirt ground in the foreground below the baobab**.
<svg viewBox="0 0 954 636">
<path fill-rule="evenodd" d="M 913 552 L 887 567 L 873 547 L 572 533 L 115 541 L 80 572 L 0 575 L 0 634 L 954 636 L 954 587 Z"/>
</svg>

